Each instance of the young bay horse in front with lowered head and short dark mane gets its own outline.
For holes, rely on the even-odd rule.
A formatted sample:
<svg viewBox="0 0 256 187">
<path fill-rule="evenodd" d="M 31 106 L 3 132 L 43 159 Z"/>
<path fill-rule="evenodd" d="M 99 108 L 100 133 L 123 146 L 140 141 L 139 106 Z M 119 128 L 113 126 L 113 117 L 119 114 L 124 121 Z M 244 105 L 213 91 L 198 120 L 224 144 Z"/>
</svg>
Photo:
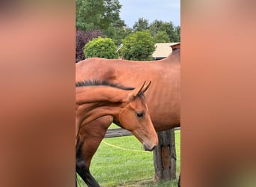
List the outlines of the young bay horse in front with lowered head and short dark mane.
<svg viewBox="0 0 256 187">
<path fill-rule="evenodd" d="M 158 138 L 144 98 L 150 83 L 128 88 L 109 82 L 76 82 L 76 137 L 92 120 L 111 115 L 141 141 L 144 150 L 153 150 Z"/>
</svg>

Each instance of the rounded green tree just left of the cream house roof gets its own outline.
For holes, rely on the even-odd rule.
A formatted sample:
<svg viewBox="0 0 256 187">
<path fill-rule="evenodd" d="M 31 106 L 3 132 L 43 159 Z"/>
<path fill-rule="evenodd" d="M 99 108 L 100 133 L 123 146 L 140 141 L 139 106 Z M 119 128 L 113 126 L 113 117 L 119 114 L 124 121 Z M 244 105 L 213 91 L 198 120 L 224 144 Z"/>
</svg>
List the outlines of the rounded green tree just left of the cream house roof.
<svg viewBox="0 0 256 187">
<path fill-rule="evenodd" d="M 155 43 L 148 31 L 136 31 L 123 40 L 121 54 L 127 60 L 147 61 L 152 59 Z"/>
</svg>

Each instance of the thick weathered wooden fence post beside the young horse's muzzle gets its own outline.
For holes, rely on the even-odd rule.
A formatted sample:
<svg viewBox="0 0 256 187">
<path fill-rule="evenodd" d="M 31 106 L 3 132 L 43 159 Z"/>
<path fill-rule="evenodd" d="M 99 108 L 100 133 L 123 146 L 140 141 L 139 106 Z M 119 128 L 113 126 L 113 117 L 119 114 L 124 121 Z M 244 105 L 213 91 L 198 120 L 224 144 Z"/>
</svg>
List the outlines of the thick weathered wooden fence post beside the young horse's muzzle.
<svg viewBox="0 0 256 187">
<path fill-rule="evenodd" d="M 174 129 L 157 132 L 159 146 L 153 151 L 156 180 L 176 179 L 176 150 Z"/>
</svg>

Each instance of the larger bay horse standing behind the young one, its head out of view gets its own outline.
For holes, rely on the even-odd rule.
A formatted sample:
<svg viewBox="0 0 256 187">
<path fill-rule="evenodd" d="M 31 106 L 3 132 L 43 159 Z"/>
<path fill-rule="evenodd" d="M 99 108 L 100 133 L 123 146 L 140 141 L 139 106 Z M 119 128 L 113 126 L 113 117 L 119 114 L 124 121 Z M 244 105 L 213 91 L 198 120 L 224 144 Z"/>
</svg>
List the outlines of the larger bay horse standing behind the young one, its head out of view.
<svg viewBox="0 0 256 187">
<path fill-rule="evenodd" d="M 180 126 L 180 49 L 159 61 L 88 58 L 76 64 L 76 81 L 84 79 L 107 80 L 134 87 L 138 82 L 150 79 L 152 84 L 145 96 L 156 131 Z M 76 155 L 79 165 L 76 166 L 85 171 L 79 175 L 83 175 L 82 179 L 88 186 L 99 186 L 89 168 L 112 122 L 121 126 L 120 121 L 106 116 L 88 123 L 79 132 L 79 154 Z M 93 134 L 92 129 L 100 133 Z M 87 144 L 91 139 L 94 144 Z"/>
</svg>

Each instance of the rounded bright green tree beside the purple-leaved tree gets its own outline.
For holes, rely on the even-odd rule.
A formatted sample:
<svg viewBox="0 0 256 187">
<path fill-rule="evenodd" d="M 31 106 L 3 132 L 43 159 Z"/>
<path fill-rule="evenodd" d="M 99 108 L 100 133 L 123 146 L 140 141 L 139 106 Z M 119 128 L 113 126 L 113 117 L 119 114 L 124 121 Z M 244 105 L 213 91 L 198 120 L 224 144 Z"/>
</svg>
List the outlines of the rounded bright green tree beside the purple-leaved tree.
<svg viewBox="0 0 256 187">
<path fill-rule="evenodd" d="M 94 38 L 85 45 L 85 57 L 118 58 L 117 47 L 110 38 Z"/>
</svg>

